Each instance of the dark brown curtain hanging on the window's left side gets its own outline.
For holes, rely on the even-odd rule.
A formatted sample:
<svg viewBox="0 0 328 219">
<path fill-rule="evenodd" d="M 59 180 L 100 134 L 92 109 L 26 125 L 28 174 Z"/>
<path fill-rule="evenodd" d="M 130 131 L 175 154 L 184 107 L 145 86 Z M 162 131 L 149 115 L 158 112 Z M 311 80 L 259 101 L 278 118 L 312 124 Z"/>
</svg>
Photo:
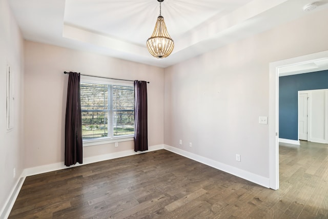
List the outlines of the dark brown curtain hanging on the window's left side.
<svg viewBox="0 0 328 219">
<path fill-rule="evenodd" d="M 65 165 L 82 164 L 80 74 L 69 72 L 65 120 Z"/>
</svg>

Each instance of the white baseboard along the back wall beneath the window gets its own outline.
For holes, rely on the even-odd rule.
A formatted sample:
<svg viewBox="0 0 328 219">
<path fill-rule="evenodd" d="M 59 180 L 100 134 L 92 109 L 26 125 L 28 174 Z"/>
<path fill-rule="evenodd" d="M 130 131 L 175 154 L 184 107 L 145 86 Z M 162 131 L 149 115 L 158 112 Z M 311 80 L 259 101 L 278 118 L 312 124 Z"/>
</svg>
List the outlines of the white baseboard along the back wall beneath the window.
<svg viewBox="0 0 328 219">
<path fill-rule="evenodd" d="M 31 168 L 25 169 L 23 174 L 24 174 L 24 176 L 36 175 L 36 174 L 40 174 L 40 173 L 46 173 L 46 172 L 51 172 L 51 171 L 56 171 L 56 170 L 61 170 L 61 169 L 78 167 L 78 166 L 86 165 L 86 164 L 92 164 L 92 163 L 96 163 L 96 162 L 100 162 L 100 161 L 112 160 L 112 159 L 124 157 L 124 156 L 130 156 L 130 155 L 135 155 L 135 154 L 140 154 L 140 153 L 147 153 L 147 152 L 155 151 L 155 150 L 159 150 L 159 149 L 163 149 L 163 145 L 149 146 L 147 151 L 135 152 L 134 150 L 127 150 L 127 151 L 108 153 L 108 154 L 103 154 L 103 155 L 98 155 L 98 156 L 85 157 L 85 158 L 83 158 L 83 164 L 76 163 L 75 165 L 72 165 L 70 167 L 65 166 L 64 162 L 48 164 L 48 165 L 43 165 L 43 166 L 38 166 L 38 167 L 31 167 Z"/>
</svg>

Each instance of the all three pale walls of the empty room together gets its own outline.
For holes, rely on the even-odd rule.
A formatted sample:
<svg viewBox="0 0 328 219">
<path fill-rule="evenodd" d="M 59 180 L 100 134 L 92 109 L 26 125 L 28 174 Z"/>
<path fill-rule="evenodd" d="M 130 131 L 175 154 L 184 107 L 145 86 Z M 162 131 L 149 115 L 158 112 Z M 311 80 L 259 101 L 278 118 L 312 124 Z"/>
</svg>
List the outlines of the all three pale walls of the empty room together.
<svg viewBox="0 0 328 219">
<path fill-rule="evenodd" d="M 0 0 L 0 206 L 24 168 L 64 162 L 64 71 L 150 81 L 150 146 L 165 143 L 269 178 L 269 127 L 258 124 L 259 115 L 269 114 L 269 63 L 328 50 L 327 19 L 327 10 L 310 14 L 163 70 L 28 41 L 24 49 L 7 0 Z M 7 62 L 15 74 L 12 131 L 6 130 Z M 85 147 L 84 157 L 133 148 L 131 141 L 119 145 Z"/>
</svg>

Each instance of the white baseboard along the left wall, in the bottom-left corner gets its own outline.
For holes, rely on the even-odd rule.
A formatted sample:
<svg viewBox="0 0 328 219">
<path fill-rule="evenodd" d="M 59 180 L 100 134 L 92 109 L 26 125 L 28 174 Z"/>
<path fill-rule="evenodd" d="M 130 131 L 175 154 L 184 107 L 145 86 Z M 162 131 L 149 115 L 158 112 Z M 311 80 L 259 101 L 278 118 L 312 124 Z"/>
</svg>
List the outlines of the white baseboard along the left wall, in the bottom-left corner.
<svg viewBox="0 0 328 219">
<path fill-rule="evenodd" d="M 12 207 L 14 206 L 14 203 L 16 201 L 18 193 L 23 186 L 24 181 L 25 181 L 25 177 L 23 176 L 23 173 L 22 173 L 22 175 L 20 175 L 20 177 L 17 178 L 17 182 L 16 182 L 14 188 L 11 190 L 10 195 L 7 198 L 5 205 L 3 206 L 3 208 L 0 211 L 0 219 L 8 218 L 10 211 L 11 211 Z"/>
</svg>

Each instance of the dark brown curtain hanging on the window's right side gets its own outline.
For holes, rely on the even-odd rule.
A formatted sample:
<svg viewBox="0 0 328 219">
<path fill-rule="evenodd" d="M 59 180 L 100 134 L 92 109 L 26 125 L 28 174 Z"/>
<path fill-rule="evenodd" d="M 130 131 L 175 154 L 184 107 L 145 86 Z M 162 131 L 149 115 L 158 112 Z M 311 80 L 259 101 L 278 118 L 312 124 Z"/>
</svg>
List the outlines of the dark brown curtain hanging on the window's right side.
<svg viewBox="0 0 328 219">
<path fill-rule="evenodd" d="M 148 150 L 147 82 L 134 81 L 134 151 Z"/>
</svg>

